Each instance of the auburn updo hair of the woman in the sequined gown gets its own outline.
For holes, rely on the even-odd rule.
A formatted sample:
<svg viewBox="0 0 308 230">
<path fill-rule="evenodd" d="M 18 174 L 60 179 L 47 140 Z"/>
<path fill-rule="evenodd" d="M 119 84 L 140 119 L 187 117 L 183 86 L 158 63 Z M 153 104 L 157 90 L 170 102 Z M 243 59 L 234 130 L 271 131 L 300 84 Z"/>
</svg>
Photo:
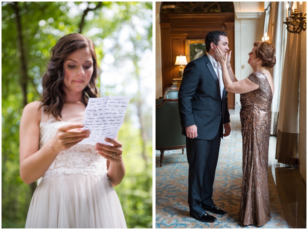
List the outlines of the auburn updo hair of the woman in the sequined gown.
<svg viewBox="0 0 308 230">
<path fill-rule="evenodd" d="M 256 56 L 262 61 L 262 66 L 272 68 L 276 64 L 276 49 L 269 42 L 255 42 L 253 46 L 257 47 Z"/>
</svg>

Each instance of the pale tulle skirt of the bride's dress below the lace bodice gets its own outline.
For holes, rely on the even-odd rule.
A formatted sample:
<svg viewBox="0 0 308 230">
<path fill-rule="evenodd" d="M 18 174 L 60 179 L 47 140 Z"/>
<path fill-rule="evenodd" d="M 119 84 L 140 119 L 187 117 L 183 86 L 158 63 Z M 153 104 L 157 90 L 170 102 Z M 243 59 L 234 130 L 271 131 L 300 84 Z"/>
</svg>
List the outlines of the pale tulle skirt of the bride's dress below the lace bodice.
<svg viewBox="0 0 308 230">
<path fill-rule="evenodd" d="M 25 228 L 127 228 L 120 200 L 106 176 L 61 174 L 34 191 Z"/>
</svg>

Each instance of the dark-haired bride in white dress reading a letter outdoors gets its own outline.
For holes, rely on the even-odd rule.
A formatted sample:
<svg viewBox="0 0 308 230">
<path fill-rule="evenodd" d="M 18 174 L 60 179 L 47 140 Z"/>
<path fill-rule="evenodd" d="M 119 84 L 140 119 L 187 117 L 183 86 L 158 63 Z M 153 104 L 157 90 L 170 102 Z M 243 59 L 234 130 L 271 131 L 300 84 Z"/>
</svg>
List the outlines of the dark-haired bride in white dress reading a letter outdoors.
<svg viewBox="0 0 308 230">
<path fill-rule="evenodd" d="M 25 228 L 126 228 L 113 189 L 124 177 L 116 139 L 78 144 L 88 98 L 98 97 L 93 42 L 81 34 L 59 39 L 42 78 L 42 100 L 26 105 L 20 121 L 20 177 L 42 177 Z"/>
</svg>

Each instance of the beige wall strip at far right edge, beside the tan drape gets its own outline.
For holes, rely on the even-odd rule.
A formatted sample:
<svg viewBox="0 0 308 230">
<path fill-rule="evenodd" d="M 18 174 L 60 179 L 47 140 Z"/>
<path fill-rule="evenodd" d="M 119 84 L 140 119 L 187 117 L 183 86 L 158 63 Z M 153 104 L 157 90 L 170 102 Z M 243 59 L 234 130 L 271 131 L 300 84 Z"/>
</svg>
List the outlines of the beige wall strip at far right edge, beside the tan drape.
<svg viewBox="0 0 308 230">
<path fill-rule="evenodd" d="M 306 2 L 303 2 L 303 13 L 306 13 Z M 300 63 L 300 91 L 299 91 L 299 173 L 306 182 L 306 34 L 307 31 L 301 32 L 301 63 Z"/>
</svg>

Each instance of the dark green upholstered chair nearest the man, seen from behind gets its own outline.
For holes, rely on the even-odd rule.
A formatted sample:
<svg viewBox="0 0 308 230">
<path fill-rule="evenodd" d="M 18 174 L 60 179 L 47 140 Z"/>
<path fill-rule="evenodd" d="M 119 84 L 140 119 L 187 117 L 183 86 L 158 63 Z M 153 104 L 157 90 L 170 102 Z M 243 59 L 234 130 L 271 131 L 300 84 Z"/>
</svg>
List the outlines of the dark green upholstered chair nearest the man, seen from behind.
<svg viewBox="0 0 308 230">
<path fill-rule="evenodd" d="M 182 135 L 178 99 L 164 99 L 156 105 L 156 150 L 160 150 L 160 167 L 163 165 L 164 151 L 186 148 L 186 138 Z"/>
</svg>

